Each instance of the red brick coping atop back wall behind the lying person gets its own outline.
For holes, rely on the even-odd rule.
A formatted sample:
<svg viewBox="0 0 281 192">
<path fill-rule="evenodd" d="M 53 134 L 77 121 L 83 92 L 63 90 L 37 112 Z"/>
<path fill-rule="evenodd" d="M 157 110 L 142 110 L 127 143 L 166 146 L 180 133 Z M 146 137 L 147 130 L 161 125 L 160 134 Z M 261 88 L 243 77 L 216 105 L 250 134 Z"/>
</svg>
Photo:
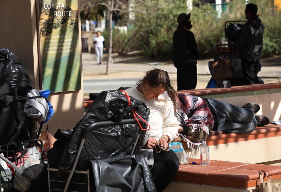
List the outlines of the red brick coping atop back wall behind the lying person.
<svg viewBox="0 0 281 192">
<path fill-rule="evenodd" d="M 244 85 L 244 86 L 234 86 L 231 88 L 193 89 L 193 90 L 177 91 L 177 94 L 203 96 L 203 95 L 211 95 L 211 94 L 256 91 L 262 89 L 276 89 L 276 88 L 281 88 L 281 83 L 253 84 L 253 85 Z"/>
</svg>

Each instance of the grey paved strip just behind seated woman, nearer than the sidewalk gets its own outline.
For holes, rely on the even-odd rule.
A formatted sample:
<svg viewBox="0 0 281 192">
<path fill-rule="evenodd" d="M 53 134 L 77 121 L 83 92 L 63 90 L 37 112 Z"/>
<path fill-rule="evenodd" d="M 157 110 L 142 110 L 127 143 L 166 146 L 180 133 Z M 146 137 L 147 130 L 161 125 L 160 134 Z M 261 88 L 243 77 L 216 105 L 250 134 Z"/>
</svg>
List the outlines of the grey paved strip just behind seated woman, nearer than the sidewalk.
<svg viewBox="0 0 281 192">
<path fill-rule="evenodd" d="M 100 93 L 104 90 L 114 90 L 120 87 L 132 87 L 136 85 L 138 78 L 126 79 L 84 79 L 84 93 Z"/>
</svg>

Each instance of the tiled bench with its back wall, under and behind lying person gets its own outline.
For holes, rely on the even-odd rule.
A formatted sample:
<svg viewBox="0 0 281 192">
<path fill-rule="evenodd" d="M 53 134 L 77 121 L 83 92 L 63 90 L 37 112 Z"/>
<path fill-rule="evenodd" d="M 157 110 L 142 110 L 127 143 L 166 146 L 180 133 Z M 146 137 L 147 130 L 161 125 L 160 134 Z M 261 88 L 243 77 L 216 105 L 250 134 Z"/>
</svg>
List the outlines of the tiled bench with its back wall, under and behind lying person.
<svg viewBox="0 0 281 192">
<path fill-rule="evenodd" d="M 236 106 L 254 102 L 261 106 L 261 110 L 256 115 L 265 115 L 270 121 L 281 119 L 281 83 L 195 89 L 177 91 L 177 93 L 213 98 Z M 281 148 L 277 147 L 277 143 L 281 141 L 280 136 L 281 126 L 269 124 L 257 127 L 250 134 L 225 134 L 212 131 L 207 144 L 210 147 L 211 159 L 275 164 L 281 162 Z M 186 145 L 184 148 L 190 152 Z M 221 153 L 222 151 L 224 153 Z M 192 155 L 193 158 L 200 158 L 199 153 L 192 153 Z"/>
</svg>

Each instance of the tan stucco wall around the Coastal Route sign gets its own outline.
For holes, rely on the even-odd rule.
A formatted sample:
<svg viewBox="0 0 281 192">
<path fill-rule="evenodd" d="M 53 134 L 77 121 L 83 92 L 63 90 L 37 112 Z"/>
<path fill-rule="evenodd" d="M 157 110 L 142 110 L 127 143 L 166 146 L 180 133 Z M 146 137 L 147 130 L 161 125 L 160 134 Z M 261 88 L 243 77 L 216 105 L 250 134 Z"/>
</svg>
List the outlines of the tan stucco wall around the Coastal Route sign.
<svg viewBox="0 0 281 192">
<path fill-rule="evenodd" d="M 16 59 L 25 66 L 33 87 L 39 89 L 35 1 L 0 1 L 0 18 L 0 47 L 10 49 L 15 54 Z M 78 20 L 79 39 L 81 39 L 80 18 Z M 81 41 L 78 43 L 81 50 Z M 80 52 L 82 66 L 81 58 Z M 54 116 L 48 122 L 51 134 L 54 134 L 57 129 L 72 129 L 83 117 L 83 79 L 81 82 L 82 90 L 80 91 L 62 92 L 49 96 L 48 99 L 54 107 Z"/>
</svg>

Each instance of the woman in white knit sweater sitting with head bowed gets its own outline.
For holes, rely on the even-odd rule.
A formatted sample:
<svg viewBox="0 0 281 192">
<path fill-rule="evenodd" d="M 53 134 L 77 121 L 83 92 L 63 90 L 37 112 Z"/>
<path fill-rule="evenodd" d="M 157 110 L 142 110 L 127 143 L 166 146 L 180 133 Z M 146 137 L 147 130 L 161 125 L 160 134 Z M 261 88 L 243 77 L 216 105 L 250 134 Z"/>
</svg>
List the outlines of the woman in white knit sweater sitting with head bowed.
<svg viewBox="0 0 281 192">
<path fill-rule="evenodd" d="M 126 92 L 128 95 L 144 101 L 150 109 L 148 123 L 151 129 L 146 132 L 148 140 L 144 148 L 150 154 L 157 145 L 166 149 L 179 128 L 174 107 L 177 103 L 177 94 L 170 83 L 169 75 L 166 71 L 154 68 L 146 72 L 136 85 L 137 87 L 126 89 Z M 154 152 L 153 159 L 151 173 L 156 190 L 160 192 L 176 175 L 179 169 L 179 159 L 172 150 Z"/>
</svg>

